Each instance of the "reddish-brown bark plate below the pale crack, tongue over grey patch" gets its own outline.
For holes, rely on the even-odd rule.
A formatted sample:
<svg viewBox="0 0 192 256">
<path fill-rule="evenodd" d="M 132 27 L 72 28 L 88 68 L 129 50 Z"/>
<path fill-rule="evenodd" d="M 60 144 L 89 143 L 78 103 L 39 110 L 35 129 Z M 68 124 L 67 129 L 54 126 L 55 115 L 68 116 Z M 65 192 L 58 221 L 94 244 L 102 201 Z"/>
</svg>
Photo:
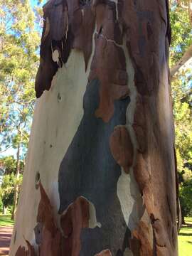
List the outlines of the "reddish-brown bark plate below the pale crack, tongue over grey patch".
<svg viewBox="0 0 192 256">
<path fill-rule="evenodd" d="M 129 89 L 124 52 L 102 35 L 95 36 L 89 81 L 95 78 L 100 80 L 100 105 L 95 115 L 109 122 L 114 113 L 114 100 L 127 97 Z"/>
</svg>

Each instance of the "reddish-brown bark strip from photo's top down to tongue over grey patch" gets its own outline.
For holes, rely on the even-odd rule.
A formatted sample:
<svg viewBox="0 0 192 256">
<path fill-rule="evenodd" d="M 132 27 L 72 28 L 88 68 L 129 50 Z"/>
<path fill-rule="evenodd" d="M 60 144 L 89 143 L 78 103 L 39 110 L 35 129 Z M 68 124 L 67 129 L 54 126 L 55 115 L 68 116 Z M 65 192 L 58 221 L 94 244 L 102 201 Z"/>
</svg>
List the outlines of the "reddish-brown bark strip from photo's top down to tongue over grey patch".
<svg viewBox="0 0 192 256">
<path fill-rule="evenodd" d="M 97 36 L 89 81 L 100 80 L 100 105 L 96 117 L 109 122 L 114 113 L 114 100 L 129 95 L 127 71 L 122 45 L 122 32 L 117 23 L 115 4 L 111 1 L 95 1 Z"/>
</svg>

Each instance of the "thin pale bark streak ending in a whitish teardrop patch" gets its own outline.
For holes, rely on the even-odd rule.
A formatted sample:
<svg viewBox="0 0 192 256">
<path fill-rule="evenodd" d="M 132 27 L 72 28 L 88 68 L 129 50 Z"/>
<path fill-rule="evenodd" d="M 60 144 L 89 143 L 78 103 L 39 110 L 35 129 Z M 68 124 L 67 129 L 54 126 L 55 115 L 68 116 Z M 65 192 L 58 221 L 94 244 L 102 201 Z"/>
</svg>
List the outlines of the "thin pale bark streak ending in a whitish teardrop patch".
<svg viewBox="0 0 192 256">
<path fill-rule="evenodd" d="M 143 206 L 142 196 L 139 193 L 139 188 L 133 174 L 133 168 L 135 165 L 136 155 L 137 155 L 137 138 L 134 133 L 134 129 L 132 128 L 132 124 L 134 122 L 134 112 L 136 109 L 137 88 L 134 85 L 134 68 L 127 50 L 126 38 L 124 38 L 124 43 L 122 48 L 124 50 L 124 55 L 126 58 L 126 65 L 127 65 L 126 68 L 127 68 L 128 78 L 129 78 L 127 86 L 129 87 L 129 97 L 130 97 L 130 102 L 126 112 L 126 120 L 127 120 L 126 127 L 129 132 L 132 145 L 134 148 L 134 159 L 133 159 L 133 164 L 129 169 L 129 174 L 126 174 L 122 169 L 122 174 L 119 177 L 119 180 L 117 182 L 117 196 L 120 201 L 122 213 L 124 215 L 124 220 L 127 223 L 128 228 L 130 230 L 134 230 L 134 228 L 137 227 L 137 223 L 139 223 L 139 218 L 141 217 L 140 213 L 142 211 L 142 206 Z"/>
</svg>

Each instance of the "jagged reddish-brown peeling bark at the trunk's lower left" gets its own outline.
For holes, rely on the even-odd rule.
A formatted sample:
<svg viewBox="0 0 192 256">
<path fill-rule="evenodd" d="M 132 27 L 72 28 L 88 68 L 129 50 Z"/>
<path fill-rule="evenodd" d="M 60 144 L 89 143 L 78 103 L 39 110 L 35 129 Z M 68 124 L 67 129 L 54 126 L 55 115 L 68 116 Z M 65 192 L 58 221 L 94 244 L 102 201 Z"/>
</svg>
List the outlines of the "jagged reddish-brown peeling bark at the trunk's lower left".
<svg viewBox="0 0 192 256">
<path fill-rule="evenodd" d="M 89 227 L 89 202 L 85 198 L 77 198 L 60 217 L 63 235 L 55 225 L 50 200 L 41 181 L 39 183 L 41 201 L 38 206 L 37 222 L 42 224 L 41 238 L 38 241 L 40 256 L 78 256 L 80 253 L 80 232 Z M 28 241 L 28 250 L 18 247 L 16 256 L 36 256 Z"/>
</svg>

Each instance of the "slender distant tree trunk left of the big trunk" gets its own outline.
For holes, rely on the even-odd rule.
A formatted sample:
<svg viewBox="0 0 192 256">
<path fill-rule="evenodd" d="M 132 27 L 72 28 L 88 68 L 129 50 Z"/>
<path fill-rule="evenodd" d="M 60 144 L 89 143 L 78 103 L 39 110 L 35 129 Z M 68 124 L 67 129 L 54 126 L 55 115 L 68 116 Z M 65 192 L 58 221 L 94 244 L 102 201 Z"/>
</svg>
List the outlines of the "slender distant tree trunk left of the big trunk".
<svg viewBox="0 0 192 256">
<path fill-rule="evenodd" d="M 17 146 L 16 152 L 16 184 L 14 186 L 14 207 L 11 214 L 11 219 L 14 220 L 16 216 L 16 208 L 18 203 L 18 178 L 20 174 L 20 143 Z"/>
</svg>

